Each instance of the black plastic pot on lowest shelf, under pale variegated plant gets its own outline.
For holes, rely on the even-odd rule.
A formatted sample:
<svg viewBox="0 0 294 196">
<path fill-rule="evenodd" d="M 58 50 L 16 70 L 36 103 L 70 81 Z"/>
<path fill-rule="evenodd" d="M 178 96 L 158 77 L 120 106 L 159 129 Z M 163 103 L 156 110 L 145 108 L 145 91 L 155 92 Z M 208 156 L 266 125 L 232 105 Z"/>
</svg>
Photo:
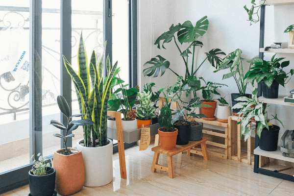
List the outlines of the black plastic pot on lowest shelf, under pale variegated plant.
<svg viewBox="0 0 294 196">
<path fill-rule="evenodd" d="M 278 139 L 279 139 L 279 131 L 280 127 L 277 125 L 269 126 L 270 130 L 267 128 L 262 129 L 259 147 L 262 150 L 266 151 L 276 151 L 278 148 Z"/>
</svg>

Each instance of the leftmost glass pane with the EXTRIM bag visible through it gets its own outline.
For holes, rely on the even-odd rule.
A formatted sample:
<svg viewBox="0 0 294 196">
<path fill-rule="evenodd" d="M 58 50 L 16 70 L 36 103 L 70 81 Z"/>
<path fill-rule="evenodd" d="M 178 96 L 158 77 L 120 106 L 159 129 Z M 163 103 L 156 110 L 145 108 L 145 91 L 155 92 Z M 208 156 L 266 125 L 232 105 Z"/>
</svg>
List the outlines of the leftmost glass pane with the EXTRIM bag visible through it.
<svg viewBox="0 0 294 196">
<path fill-rule="evenodd" d="M 5 172 L 29 164 L 29 0 L 0 2 L 0 172 Z"/>
</svg>

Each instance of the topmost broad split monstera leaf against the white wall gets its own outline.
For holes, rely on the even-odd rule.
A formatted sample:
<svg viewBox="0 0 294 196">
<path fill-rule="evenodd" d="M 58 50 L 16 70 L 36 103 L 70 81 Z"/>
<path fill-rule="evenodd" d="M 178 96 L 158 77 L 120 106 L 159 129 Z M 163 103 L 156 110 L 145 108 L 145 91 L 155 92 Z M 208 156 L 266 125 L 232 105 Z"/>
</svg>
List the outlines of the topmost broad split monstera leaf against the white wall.
<svg viewBox="0 0 294 196">
<path fill-rule="evenodd" d="M 207 16 L 197 21 L 195 26 L 192 25 L 191 21 L 186 21 L 181 25 L 182 29 L 177 33 L 179 42 L 182 44 L 195 41 L 199 36 L 206 33 L 208 24 Z"/>
</svg>

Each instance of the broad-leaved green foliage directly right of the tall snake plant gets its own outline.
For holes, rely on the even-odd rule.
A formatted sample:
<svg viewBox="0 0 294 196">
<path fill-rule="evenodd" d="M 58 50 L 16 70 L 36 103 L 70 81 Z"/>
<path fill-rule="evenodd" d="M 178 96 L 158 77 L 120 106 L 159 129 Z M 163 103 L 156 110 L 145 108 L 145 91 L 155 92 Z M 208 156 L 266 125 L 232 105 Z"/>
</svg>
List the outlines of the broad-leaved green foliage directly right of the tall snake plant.
<svg viewBox="0 0 294 196">
<path fill-rule="evenodd" d="M 108 100 L 108 110 L 118 111 L 121 108 L 121 112 L 124 114 L 123 119 L 126 121 L 127 119 L 132 119 L 131 112 L 138 95 L 138 89 L 126 89 L 129 84 L 123 84 L 124 81 L 120 77 L 118 79 L 116 85 L 119 85 L 120 88 L 110 95 Z"/>
</svg>

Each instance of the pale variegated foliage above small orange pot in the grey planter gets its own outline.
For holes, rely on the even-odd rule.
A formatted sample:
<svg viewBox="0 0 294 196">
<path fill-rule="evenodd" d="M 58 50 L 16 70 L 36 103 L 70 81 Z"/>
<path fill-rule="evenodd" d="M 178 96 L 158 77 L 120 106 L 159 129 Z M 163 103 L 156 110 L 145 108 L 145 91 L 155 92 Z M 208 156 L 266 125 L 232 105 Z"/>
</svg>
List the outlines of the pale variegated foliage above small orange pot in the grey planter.
<svg viewBox="0 0 294 196">
<path fill-rule="evenodd" d="M 136 106 L 136 116 L 141 120 L 149 120 L 155 118 L 155 107 L 153 107 L 154 102 L 150 100 L 152 94 L 150 92 L 140 92 L 138 93 L 140 104 Z"/>
</svg>

